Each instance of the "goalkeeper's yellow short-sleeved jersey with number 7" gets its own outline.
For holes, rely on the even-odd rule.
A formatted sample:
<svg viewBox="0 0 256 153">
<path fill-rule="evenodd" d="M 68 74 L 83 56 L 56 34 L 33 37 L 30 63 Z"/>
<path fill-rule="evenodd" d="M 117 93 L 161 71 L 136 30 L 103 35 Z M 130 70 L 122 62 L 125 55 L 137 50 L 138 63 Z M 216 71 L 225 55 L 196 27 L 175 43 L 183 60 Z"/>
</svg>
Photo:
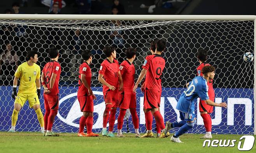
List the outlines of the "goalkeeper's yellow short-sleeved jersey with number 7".
<svg viewBox="0 0 256 153">
<path fill-rule="evenodd" d="M 40 67 L 35 63 L 30 66 L 24 62 L 18 66 L 14 76 L 20 80 L 19 93 L 35 93 L 37 91 L 35 79 L 40 78 Z"/>
</svg>

